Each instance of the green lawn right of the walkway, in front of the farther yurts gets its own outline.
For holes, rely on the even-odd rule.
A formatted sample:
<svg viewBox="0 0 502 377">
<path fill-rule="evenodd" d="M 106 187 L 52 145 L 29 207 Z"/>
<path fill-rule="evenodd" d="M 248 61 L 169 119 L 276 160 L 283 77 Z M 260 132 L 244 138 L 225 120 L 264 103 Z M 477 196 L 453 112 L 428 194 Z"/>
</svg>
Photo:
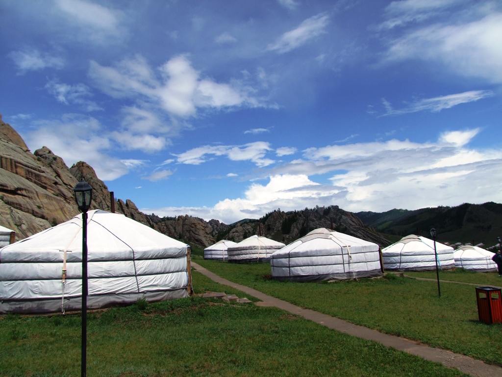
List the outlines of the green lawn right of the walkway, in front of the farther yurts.
<svg viewBox="0 0 502 377">
<path fill-rule="evenodd" d="M 270 264 L 231 264 L 199 256 L 193 260 L 228 280 L 292 304 L 502 365 L 502 324 L 478 321 L 472 286 L 442 284 L 439 299 L 435 281 L 388 275 L 324 284 L 279 282 L 270 279 Z"/>
</svg>

